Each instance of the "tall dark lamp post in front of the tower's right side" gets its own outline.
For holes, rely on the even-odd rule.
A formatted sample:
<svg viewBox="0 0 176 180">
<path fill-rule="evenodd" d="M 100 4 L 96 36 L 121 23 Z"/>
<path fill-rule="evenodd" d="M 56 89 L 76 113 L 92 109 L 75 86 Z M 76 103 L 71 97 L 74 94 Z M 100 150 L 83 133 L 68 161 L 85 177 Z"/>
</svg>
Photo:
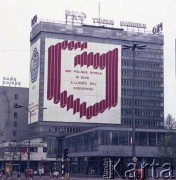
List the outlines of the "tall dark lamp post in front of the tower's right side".
<svg viewBox="0 0 176 180">
<path fill-rule="evenodd" d="M 131 49 L 133 52 L 133 76 L 132 76 L 132 158 L 136 157 L 136 147 L 135 147 L 135 131 L 136 131 L 136 124 L 135 124 L 135 50 L 140 49 L 144 50 L 146 45 L 137 45 L 134 43 L 133 45 L 123 45 L 122 49 Z"/>
</svg>

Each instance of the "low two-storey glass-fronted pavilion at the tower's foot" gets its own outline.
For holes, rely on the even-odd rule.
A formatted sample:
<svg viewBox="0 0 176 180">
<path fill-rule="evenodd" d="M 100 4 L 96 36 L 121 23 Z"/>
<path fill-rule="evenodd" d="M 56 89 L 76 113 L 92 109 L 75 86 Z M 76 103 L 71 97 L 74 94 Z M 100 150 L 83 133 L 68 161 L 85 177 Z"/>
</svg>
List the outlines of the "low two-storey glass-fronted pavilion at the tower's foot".
<svg viewBox="0 0 176 180">
<path fill-rule="evenodd" d="M 135 152 L 137 164 L 160 162 L 158 147 L 167 136 L 165 129 L 136 129 Z M 97 127 L 68 135 L 64 148 L 68 149 L 70 173 L 103 175 L 107 166 L 119 159 L 122 171 L 132 161 L 132 128 Z"/>
</svg>

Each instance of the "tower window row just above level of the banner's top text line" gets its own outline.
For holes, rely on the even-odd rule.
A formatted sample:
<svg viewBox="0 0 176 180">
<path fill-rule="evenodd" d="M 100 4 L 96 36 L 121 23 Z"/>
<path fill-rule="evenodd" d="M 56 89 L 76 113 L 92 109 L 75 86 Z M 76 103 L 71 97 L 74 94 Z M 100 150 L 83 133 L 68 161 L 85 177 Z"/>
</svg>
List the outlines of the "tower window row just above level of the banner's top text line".
<svg viewBox="0 0 176 180">
<path fill-rule="evenodd" d="M 122 67 L 123 66 L 132 67 L 133 61 L 132 60 L 122 60 Z M 149 62 L 149 61 L 135 60 L 135 67 L 159 69 L 159 68 L 163 68 L 163 63 L 162 62 Z"/>
</svg>

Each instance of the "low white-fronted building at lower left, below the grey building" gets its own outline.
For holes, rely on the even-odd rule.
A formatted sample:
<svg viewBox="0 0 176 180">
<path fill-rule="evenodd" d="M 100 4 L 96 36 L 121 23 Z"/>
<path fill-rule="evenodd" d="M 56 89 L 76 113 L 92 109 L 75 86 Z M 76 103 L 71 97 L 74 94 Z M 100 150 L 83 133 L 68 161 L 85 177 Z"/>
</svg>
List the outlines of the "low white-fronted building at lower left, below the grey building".
<svg viewBox="0 0 176 180">
<path fill-rule="evenodd" d="M 13 170 L 18 167 L 21 172 L 24 172 L 27 168 L 28 147 L 28 140 L 0 144 L 0 167 L 5 168 L 6 163 L 10 163 Z M 44 169 L 46 173 L 49 172 L 54 163 L 56 163 L 56 158 L 47 157 L 47 143 L 40 138 L 31 139 L 30 167 L 35 172 Z"/>
</svg>

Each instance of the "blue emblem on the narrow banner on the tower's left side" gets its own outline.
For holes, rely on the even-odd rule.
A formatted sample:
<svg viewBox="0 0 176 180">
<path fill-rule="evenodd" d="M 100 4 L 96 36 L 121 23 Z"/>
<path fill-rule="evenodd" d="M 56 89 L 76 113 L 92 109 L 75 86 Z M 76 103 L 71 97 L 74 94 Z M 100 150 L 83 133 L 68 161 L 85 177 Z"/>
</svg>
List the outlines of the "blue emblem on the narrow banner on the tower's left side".
<svg viewBox="0 0 176 180">
<path fill-rule="evenodd" d="M 30 64 L 30 73 L 31 73 L 31 82 L 35 82 L 38 76 L 38 68 L 39 68 L 39 53 L 37 48 L 34 48 L 32 57 L 31 57 L 31 64 Z"/>
</svg>

